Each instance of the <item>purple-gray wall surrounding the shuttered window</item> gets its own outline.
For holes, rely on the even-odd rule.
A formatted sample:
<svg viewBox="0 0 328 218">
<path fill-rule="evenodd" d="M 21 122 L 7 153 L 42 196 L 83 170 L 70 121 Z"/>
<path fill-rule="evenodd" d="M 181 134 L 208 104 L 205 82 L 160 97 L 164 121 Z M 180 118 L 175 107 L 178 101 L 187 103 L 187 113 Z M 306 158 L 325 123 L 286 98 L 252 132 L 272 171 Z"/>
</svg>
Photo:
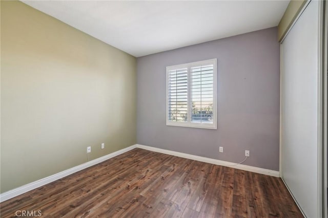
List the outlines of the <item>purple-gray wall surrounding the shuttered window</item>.
<svg viewBox="0 0 328 218">
<path fill-rule="evenodd" d="M 166 66 L 217 58 L 217 129 L 166 125 Z M 277 28 L 137 58 L 137 143 L 279 170 Z M 223 146 L 223 153 L 219 153 Z"/>
</svg>

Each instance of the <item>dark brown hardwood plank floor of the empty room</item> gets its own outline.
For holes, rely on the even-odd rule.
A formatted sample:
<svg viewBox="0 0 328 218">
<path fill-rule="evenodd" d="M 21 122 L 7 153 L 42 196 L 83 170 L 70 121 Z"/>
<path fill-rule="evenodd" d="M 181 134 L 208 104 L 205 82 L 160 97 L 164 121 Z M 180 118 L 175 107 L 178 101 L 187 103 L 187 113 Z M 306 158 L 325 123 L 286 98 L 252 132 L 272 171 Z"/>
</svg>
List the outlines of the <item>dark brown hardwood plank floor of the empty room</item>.
<svg viewBox="0 0 328 218">
<path fill-rule="evenodd" d="M 280 178 L 139 148 L 0 209 L 1 217 L 303 217 Z"/>
</svg>

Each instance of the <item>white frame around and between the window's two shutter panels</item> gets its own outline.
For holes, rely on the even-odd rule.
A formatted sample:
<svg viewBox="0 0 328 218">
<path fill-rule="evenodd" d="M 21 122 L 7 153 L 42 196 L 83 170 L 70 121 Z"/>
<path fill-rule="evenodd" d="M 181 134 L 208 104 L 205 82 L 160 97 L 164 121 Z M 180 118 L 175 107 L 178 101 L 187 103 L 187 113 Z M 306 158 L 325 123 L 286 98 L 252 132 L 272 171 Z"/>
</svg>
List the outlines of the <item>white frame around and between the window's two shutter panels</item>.
<svg viewBox="0 0 328 218">
<path fill-rule="evenodd" d="M 213 64 L 213 123 L 198 123 L 191 122 L 191 68 L 203 65 Z M 187 84 L 188 84 L 188 112 L 186 122 L 176 122 L 169 120 L 169 71 L 187 68 Z M 166 125 L 168 126 L 183 126 L 193 128 L 208 128 L 217 129 L 217 66 L 216 58 L 210 60 L 203 60 L 191 63 L 178 64 L 175 66 L 166 67 Z"/>
</svg>

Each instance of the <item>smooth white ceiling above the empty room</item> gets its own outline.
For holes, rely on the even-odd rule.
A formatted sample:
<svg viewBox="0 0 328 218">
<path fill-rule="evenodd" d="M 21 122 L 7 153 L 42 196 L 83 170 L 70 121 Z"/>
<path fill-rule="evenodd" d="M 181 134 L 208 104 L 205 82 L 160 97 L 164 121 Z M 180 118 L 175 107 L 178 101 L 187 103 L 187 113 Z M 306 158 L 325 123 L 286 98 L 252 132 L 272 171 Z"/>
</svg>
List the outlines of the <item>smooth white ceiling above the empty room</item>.
<svg viewBox="0 0 328 218">
<path fill-rule="evenodd" d="M 278 25 L 289 1 L 22 1 L 135 57 Z"/>
</svg>

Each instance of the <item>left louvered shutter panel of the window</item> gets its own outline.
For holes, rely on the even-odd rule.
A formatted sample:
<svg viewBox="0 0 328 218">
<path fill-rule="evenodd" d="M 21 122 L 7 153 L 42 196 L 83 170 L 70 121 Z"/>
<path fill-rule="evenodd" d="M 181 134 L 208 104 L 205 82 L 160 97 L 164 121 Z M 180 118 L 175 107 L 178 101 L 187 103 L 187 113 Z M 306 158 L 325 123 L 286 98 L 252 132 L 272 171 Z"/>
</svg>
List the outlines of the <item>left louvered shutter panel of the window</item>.
<svg viewBox="0 0 328 218">
<path fill-rule="evenodd" d="M 187 69 L 169 71 L 169 120 L 187 122 L 188 80 Z"/>
</svg>

